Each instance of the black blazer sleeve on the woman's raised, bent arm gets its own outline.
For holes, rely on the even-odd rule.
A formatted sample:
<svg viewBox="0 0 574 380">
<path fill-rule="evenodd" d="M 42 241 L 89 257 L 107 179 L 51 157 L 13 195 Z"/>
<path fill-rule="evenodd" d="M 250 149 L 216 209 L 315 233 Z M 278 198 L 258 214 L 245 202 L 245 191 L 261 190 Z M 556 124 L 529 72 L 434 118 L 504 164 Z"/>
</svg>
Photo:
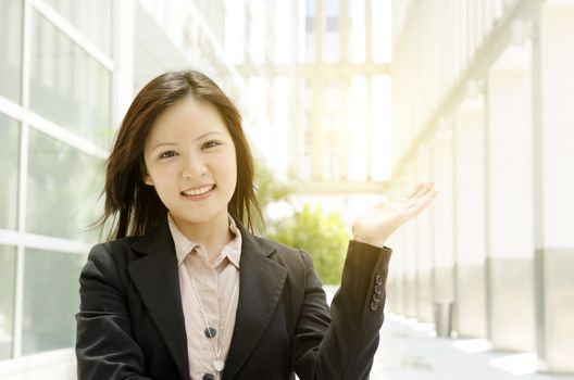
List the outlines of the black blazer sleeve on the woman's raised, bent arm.
<svg viewBox="0 0 574 380">
<path fill-rule="evenodd" d="M 301 380 L 369 379 L 384 319 L 390 254 L 388 248 L 349 242 L 329 316 L 312 259 L 301 251 L 305 291 L 291 356 Z"/>
</svg>

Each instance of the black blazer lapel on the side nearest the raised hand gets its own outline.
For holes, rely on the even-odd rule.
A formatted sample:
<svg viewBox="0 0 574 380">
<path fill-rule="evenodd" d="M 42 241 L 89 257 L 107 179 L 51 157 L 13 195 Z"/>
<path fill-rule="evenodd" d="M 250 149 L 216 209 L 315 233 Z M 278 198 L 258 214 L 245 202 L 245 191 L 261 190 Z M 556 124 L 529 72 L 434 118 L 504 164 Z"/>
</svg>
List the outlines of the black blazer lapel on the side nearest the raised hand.
<svg viewBox="0 0 574 380">
<path fill-rule="evenodd" d="M 267 256 L 274 248 L 258 241 L 238 220 L 241 231 L 239 302 L 223 380 L 233 379 L 271 321 L 280 299 L 287 270 Z"/>
</svg>

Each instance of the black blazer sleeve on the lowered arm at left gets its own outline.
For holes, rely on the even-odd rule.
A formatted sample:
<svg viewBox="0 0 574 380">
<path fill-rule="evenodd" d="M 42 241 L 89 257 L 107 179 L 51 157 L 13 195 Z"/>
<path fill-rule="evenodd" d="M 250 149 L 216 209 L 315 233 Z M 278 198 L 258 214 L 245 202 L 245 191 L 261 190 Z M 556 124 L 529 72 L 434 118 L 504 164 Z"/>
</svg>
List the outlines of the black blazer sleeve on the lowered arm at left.
<svg viewBox="0 0 574 380">
<path fill-rule="evenodd" d="M 111 244 L 95 245 L 79 277 L 76 314 L 77 377 L 80 380 L 144 380 L 144 354 L 130 319 Z"/>
</svg>

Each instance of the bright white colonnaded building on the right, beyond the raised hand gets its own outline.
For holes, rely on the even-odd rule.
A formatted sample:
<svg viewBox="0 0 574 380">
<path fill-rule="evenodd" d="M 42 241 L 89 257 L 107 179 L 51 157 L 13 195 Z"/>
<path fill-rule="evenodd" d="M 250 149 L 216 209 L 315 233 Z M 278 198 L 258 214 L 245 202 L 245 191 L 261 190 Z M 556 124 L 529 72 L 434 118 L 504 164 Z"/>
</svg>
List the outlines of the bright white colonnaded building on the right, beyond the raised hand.
<svg viewBox="0 0 574 380">
<path fill-rule="evenodd" d="M 440 188 L 407 226 L 389 308 L 574 372 L 574 3 L 396 1 L 392 176 Z M 525 368 L 523 367 L 523 368 Z"/>
</svg>

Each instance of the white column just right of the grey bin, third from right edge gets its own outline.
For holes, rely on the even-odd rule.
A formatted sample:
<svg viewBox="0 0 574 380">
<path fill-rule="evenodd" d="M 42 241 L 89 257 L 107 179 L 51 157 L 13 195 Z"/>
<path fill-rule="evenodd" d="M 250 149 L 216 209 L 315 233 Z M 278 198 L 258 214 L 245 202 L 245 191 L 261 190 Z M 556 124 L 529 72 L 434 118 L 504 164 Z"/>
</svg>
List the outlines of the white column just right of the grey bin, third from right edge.
<svg viewBox="0 0 574 380">
<path fill-rule="evenodd" d="M 466 99 L 456 114 L 454 252 L 458 332 L 486 337 L 484 97 Z"/>
</svg>

